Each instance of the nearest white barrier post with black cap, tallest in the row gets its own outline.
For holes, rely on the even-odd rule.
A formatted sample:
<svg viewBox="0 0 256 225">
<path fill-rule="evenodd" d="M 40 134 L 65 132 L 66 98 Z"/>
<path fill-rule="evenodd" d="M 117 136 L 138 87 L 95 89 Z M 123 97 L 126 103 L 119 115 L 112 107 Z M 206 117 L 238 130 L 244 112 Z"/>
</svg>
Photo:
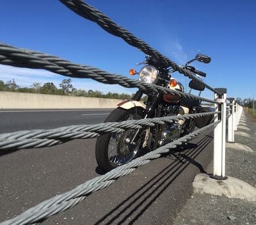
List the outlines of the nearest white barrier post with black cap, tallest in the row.
<svg viewBox="0 0 256 225">
<path fill-rule="evenodd" d="M 215 114 L 214 121 L 221 121 L 214 128 L 214 141 L 213 141 L 213 174 L 210 175 L 214 179 L 227 179 L 225 176 L 225 153 L 226 153 L 226 110 L 227 110 L 227 89 L 216 88 L 220 94 L 215 95 Z"/>
</svg>

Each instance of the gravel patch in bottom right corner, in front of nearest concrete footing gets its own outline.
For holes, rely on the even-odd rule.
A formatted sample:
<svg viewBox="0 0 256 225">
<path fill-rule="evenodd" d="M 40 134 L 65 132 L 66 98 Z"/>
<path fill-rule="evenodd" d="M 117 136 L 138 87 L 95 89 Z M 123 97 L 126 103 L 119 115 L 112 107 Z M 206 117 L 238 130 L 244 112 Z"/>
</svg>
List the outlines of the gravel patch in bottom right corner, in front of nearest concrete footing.
<svg viewBox="0 0 256 225">
<path fill-rule="evenodd" d="M 178 214 L 174 225 L 256 224 L 256 203 L 195 194 Z"/>
</svg>

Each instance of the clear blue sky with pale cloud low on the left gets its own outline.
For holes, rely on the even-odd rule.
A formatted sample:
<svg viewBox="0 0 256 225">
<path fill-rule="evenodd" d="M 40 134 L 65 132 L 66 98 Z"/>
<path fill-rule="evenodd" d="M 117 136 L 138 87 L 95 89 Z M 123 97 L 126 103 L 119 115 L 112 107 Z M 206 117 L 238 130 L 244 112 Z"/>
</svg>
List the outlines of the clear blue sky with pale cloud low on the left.
<svg viewBox="0 0 256 225">
<path fill-rule="evenodd" d="M 199 51 L 211 63 L 193 65 L 208 73 L 205 82 L 227 87 L 229 97 L 256 95 L 256 1 L 86 1 L 178 64 Z M 144 53 L 84 20 L 59 1 L 0 1 L 0 42 L 58 55 L 128 76 Z M 185 85 L 182 74 L 175 78 Z M 0 65 L 0 80 L 20 85 L 54 82 L 65 77 L 45 70 Z M 119 85 L 72 78 L 76 88 L 133 93 Z M 204 97 L 212 97 L 206 91 Z"/>
</svg>

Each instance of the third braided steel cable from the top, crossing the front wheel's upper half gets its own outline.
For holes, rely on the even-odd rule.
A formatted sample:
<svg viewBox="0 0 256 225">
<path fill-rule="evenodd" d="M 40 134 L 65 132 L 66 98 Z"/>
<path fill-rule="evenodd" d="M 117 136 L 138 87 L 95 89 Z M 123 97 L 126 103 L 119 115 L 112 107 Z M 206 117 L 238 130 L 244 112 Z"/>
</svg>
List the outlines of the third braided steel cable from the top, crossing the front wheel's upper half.
<svg viewBox="0 0 256 225">
<path fill-rule="evenodd" d="M 46 130 L 23 130 L 0 134 L 0 150 L 27 149 L 58 145 L 74 139 L 96 138 L 105 133 L 120 133 L 127 129 L 154 127 L 164 123 L 173 123 L 179 119 L 199 118 L 219 112 L 172 115 L 150 119 L 137 119 L 121 122 L 99 123 L 96 125 L 72 125 Z"/>
</svg>

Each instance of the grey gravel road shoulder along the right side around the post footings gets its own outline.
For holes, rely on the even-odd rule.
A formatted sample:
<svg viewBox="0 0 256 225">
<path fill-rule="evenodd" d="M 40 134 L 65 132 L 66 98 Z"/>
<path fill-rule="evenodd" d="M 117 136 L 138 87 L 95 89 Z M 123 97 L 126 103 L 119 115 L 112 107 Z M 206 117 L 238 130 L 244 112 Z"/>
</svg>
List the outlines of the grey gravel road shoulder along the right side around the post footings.
<svg viewBox="0 0 256 225">
<path fill-rule="evenodd" d="M 239 143 L 238 145 L 242 144 L 243 147 L 238 148 L 237 145 L 229 144 L 226 148 L 227 176 L 245 181 L 254 189 L 256 187 L 255 130 L 256 123 L 245 115 L 238 126 L 238 131 L 235 132 L 235 142 Z M 242 132 L 248 135 L 241 135 Z M 207 172 L 211 172 L 211 168 L 210 165 Z M 178 213 L 174 224 L 256 224 L 256 202 L 194 192 Z"/>
</svg>

